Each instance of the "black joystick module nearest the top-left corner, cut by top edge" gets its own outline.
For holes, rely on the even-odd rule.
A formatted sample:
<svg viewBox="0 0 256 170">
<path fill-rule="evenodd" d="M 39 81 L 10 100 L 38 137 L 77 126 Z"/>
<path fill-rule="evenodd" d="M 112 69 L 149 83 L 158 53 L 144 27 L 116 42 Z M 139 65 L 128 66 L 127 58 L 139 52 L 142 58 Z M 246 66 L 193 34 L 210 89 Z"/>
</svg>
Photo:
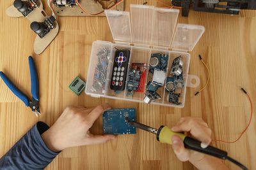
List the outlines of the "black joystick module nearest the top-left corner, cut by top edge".
<svg viewBox="0 0 256 170">
<path fill-rule="evenodd" d="M 20 11 L 24 17 L 26 17 L 29 15 L 29 13 L 31 13 L 31 11 L 38 7 L 37 1 L 38 0 L 15 0 L 13 6 L 17 8 L 17 10 Z"/>
</svg>

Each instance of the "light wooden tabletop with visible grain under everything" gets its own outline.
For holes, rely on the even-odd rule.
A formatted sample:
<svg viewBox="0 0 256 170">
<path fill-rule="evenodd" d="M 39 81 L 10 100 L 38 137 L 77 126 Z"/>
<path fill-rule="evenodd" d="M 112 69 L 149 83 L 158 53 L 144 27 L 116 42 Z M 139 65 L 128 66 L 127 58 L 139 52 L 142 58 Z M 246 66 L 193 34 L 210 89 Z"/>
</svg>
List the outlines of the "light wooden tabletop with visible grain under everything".
<svg viewBox="0 0 256 170">
<path fill-rule="evenodd" d="M 130 3 L 125 1 L 125 9 Z M 148 1 L 157 4 L 156 1 Z M 0 70 L 15 85 L 30 94 L 28 56 L 33 55 L 40 81 L 40 110 L 36 118 L 29 108 L 0 81 L 0 156 L 4 155 L 38 120 L 52 125 L 63 109 L 70 105 L 88 108 L 111 103 L 113 108 L 136 108 L 137 119 L 153 127 L 172 127 L 180 117 L 202 117 L 212 129 L 212 139 L 233 140 L 239 136 L 250 118 L 250 103 L 239 86 L 256 101 L 256 11 L 241 11 L 239 16 L 190 11 L 179 22 L 205 26 L 205 33 L 191 52 L 190 74 L 205 84 L 207 72 L 197 55 L 200 53 L 211 70 L 207 89 L 187 90 L 183 109 L 138 104 L 111 99 L 97 99 L 82 94 L 77 97 L 68 89 L 77 76 L 86 80 L 92 42 L 112 41 L 106 17 L 59 17 L 60 32 L 41 55 L 33 53 L 35 34 L 26 18 L 10 18 L 5 10 L 12 1 L 0 1 Z M 44 1 L 45 10 L 50 13 Z M 92 131 L 102 132 L 101 118 Z M 213 143 L 227 150 L 230 156 L 256 169 L 255 112 L 244 136 L 233 144 Z M 230 169 L 238 169 L 225 162 Z M 69 148 L 58 155 L 46 169 L 195 169 L 189 162 L 180 162 L 170 145 L 163 145 L 147 132 L 118 136 L 104 145 Z"/>
</svg>

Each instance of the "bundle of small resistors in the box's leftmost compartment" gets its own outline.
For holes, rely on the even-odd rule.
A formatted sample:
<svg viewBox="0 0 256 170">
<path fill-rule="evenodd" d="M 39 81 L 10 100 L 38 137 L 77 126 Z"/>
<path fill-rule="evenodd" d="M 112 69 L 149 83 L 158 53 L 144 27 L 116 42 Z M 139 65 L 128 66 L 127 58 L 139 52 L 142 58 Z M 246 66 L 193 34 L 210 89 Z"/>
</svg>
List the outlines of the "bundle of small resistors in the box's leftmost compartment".
<svg viewBox="0 0 256 170">
<path fill-rule="evenodd" d="M 93 85 L 90 89 L 92 92 L 105 92 L 106 76 L 108 73 L 108 62 L 110 60 L 110 50 L 108 48 L 101 48 L 97 52 L 98 63 L 95 67 L 93 76 Z"/>
</svg>

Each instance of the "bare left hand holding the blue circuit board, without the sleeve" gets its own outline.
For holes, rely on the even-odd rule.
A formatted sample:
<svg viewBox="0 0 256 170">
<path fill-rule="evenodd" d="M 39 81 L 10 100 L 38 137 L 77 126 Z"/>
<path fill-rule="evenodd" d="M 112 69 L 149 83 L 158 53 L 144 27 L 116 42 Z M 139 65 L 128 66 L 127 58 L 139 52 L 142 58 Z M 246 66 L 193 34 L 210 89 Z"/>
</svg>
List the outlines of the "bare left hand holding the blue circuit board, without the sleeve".
<svg viewBox="0 0 256 170">
<path fill-rule="evenodd" d="M 96 108 L 68 107 L 50 129 L 42 134 L 45 145 L 53 152 L 81 145 L 93 145 L 115 139 L 114 135 L 93 135 L 89 129 L 108 104 Z"/>
</svg>

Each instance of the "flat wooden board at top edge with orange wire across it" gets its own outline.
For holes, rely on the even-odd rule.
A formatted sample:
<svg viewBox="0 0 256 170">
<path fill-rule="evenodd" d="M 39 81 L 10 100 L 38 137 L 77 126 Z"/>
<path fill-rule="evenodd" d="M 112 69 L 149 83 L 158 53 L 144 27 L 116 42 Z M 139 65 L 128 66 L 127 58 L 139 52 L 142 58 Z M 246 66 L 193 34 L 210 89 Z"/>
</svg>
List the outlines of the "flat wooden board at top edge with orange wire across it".
<svg viewBox="0 0 256 170">
<path fill-rule="evenodd" d="M 52 8 L 56 12 L 56 15 L 58 16 L 96 16 L 96 15 L 90 15 L 91 14 L 96 14 L 100 13 L 97 16 L 105 16 L 104 13 L 101 13 L 104 11 L 104 8 L 102 7 L 102 4 L 100 4 L 98 1 L 95 2 L 94 0 L 80 0 L 79 1 L 81 6 L 83 6 L 84 10 L 88 11 L 88 13 L 84 13 L 83 10 L 79 6 L 73 6 L 72 8 L 70 7 L 61 7 L 58 8 L 57 6 L 52 5 Z M 108 5 L 110 8 L 113 6 L 114 3 L 111 3 Z M 113 10 L 121 10 L 124 11 L 124 1 L 117 6 L 113 8 Z"/>
</svg>

